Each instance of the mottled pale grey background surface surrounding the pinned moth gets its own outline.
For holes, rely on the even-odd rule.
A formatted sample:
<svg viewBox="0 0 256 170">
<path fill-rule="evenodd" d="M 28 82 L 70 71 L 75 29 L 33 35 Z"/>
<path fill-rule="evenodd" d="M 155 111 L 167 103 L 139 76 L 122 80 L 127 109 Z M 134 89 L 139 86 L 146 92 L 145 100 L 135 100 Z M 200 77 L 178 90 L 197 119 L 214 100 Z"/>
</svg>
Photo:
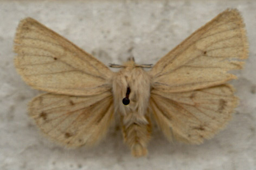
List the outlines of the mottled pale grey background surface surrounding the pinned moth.
<svg viewBox="0 0 256 170">
<path fill-rule="evenodd" d="M 33 17 L 105 64 L 130 55 L 155 63 L 226 8 L 244 16 L 250 53 L 238 81 L 241 99 L 228 126 L 193 146 L 169 143 L 155 130 L 146 158 L 133 158 L 119 130 L 94 148 L 67 150 L 44 138 L 27 115 L 40 92 L 17 75 L 12 41 L 20 19 Z M 256 1 L 0 1 L 0 169 L 256 169 Z"/>
</svg>

